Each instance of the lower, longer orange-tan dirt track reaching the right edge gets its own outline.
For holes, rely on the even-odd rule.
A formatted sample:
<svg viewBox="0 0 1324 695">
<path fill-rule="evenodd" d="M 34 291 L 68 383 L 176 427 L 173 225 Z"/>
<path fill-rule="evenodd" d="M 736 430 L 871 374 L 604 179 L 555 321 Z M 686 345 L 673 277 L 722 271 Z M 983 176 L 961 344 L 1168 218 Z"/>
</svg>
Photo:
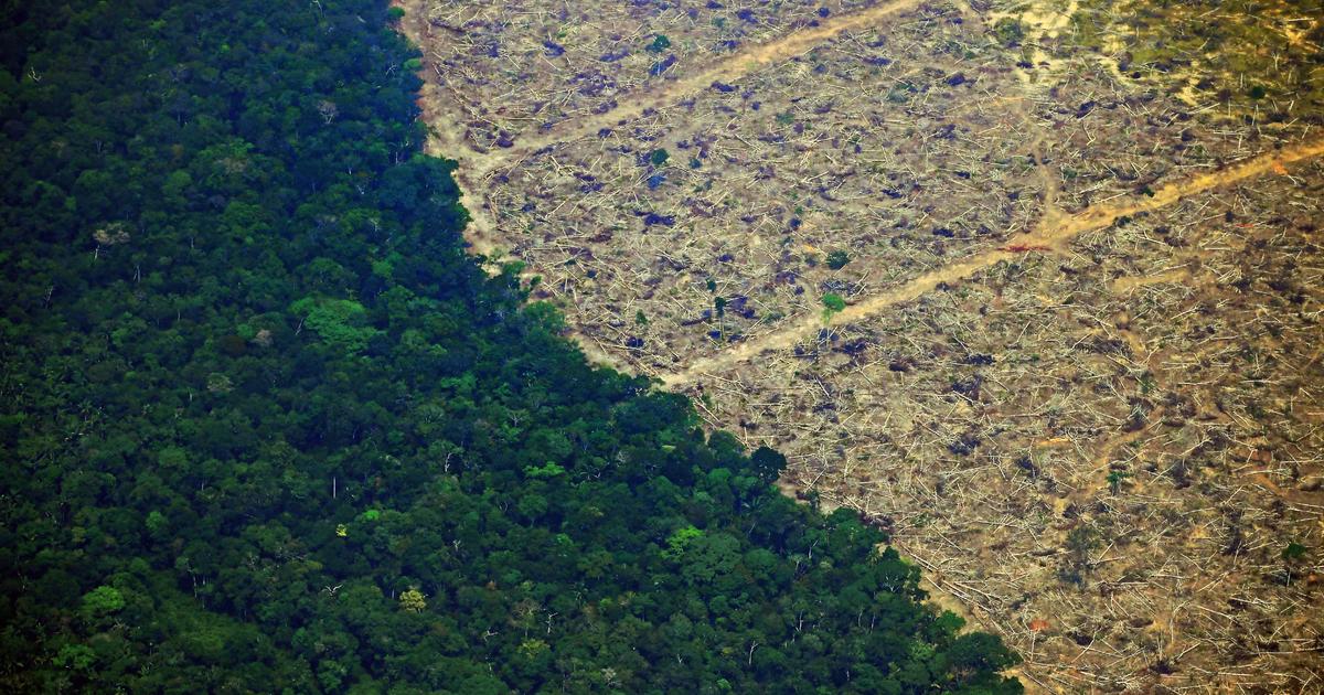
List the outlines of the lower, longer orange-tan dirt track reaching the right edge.
<svg viewBox="0 0 1324 695">
<path fill-rule="evenodd" d="M 1018 246 L 1045 246 L 1061 250 L 1066 242 L 1074 240 L 1075 237 L 1086 232 L 1103 229 L 1119 217 L 1157 210 L 1177 203 L 1182 197 L 1230 185 L 1271 171 L 1278 171 L 1284 164 L 1291 164 L 1294 162 L 1320 155 L 1324 155 L 1324 139 L 1245 159 L 1218 171 L 1166 184 L 1156 191 L 1153 197 L 1133 197 L 1128 203 L 1120 205 L 1087 209 L 1079 214 L 1062 220 L 1045 218 L 1034 232 L 1018 237 L 1016 242 Z M 833 320 L 838 323 L 850 323 L 867 319 L 892 306 L 918 299 L 924 293 L 933 290 L 940 282 L 959 282 L 980 270 L 996 265 L 998 261 L 1014 258 L 1022 253 L 1025 252 L 993 249 L 974 254 L 964 261 L 924 273 L 923 275 L 892 290 L 866 298 L 854 304 L 849 304 L 846 310 L 837 314 Z M 661 379 L 662 383 L 670 388 L 690 384 L 703 376 L 720 373 L 735 364 L 749 361 L 763 352 L 794 347 L 794 344 L 802 340 L 804 336 L 810 335 L 822 327 L 822 318 L 818 314 L 802 315 L 797 319 L 786 322 L 784 327 L 764 335 L 759 340 L 741 343 L 719 355 L 695 360 L 686 369 L 663 375 Z"/>
</svg>

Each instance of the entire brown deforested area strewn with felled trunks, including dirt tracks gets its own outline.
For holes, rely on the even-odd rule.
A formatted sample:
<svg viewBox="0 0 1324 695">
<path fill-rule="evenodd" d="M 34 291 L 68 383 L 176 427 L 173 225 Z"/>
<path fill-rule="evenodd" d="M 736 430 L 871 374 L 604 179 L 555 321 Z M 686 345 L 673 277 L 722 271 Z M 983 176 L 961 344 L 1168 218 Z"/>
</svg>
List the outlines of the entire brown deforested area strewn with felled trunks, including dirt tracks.
<svg viewBox="0 0 1324 695">
<path fill-rule="evenodd" d="M 404 7 L 475 250 L 1029 684 L 1324 687 L 1320 3 Z"/>
</svg>

